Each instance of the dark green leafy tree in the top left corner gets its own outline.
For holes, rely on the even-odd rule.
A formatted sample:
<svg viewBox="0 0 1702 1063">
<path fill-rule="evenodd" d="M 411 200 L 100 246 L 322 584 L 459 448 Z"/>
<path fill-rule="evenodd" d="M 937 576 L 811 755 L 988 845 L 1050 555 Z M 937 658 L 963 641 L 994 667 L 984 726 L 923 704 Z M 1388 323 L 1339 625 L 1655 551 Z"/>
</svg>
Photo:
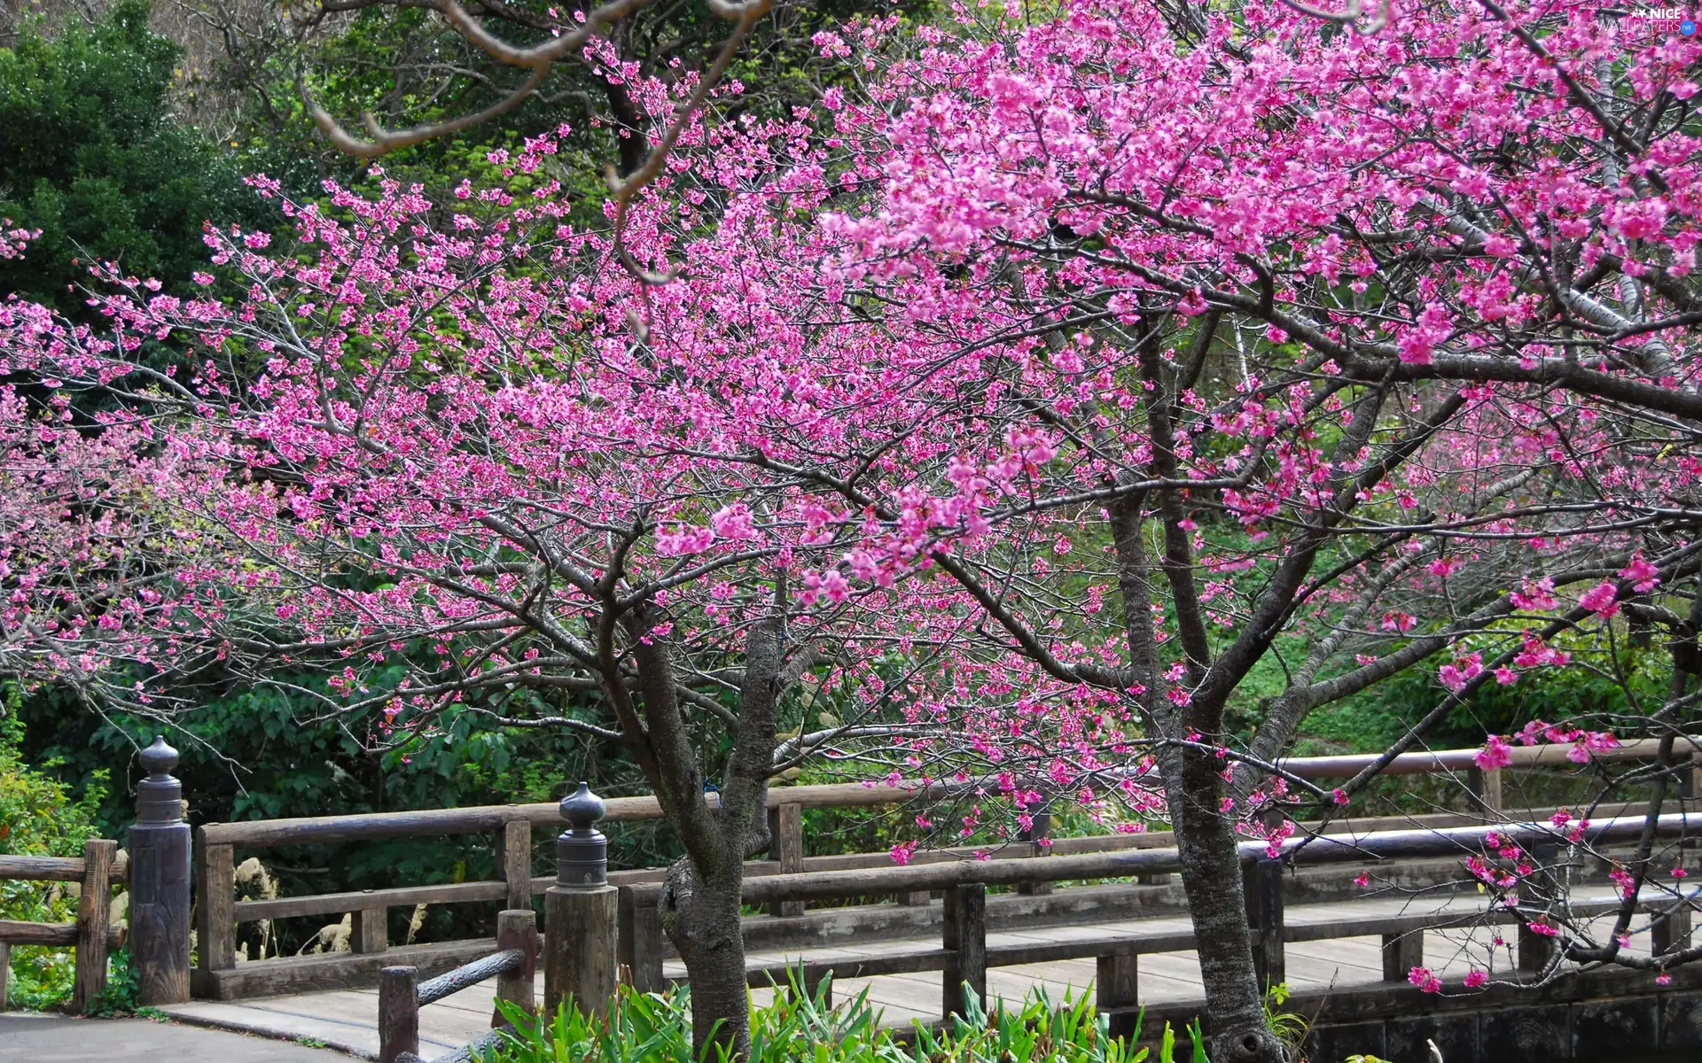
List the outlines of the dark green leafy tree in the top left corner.
<svg viewBox="0 0 1702 1063">
<path fill-rule="evenodd" d="M 262 218 L 237 168 L 172 117 L 180 60 L 143 0 L 54 37 L 26 24 L 0 49 L 0 218 L 41 230 L 0 260 L 0 293 L 85 315 L 68 287 L 89 282 L 90 257 L 180 293 L 206 267 L 204 221 Z"/>
</svg>

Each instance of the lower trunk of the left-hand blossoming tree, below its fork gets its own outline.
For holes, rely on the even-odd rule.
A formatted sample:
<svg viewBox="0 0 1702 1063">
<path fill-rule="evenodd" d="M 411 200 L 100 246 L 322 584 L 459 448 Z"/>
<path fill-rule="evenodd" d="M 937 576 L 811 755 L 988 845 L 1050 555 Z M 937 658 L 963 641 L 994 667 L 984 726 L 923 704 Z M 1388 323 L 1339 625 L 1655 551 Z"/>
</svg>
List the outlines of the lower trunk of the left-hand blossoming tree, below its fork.
<svg viewBox="0 0 1702 1063">
<path fill-rule="evenodd" d="M 728 878 L 728 876 L 720 876 Z M 751 995 L 745 990 L 744 937 L 739 932 L 739 874 L 705 883 L 691 862 L 667 871 L 662 929 L 679 949 L 691 978 L 691 1044 L 700 1060 L 715 1060 L 720 1044 L 728 1058 L 751 1053 Z"/>
</svg>

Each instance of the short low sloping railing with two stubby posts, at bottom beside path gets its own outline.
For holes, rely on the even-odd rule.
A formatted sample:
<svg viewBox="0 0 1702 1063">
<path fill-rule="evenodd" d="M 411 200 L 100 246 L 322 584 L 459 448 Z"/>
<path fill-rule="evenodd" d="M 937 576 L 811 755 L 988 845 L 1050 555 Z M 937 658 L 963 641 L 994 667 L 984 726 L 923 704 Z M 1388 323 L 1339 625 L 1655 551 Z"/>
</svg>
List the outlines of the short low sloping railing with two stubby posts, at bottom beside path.
<svg viewBox="0 0 1702 1063">
<path fill-rule="evenodd" d="M 497 951 L 429 981 L 419 980 L 419 968 L 383 968 L 378 978 L 378 1063 L 426 1063 L 419 1054 L 420 1009 L 488 978 L 497 980 L 497 1000 L 534 1010 L 536 971 L 538 917 L 531 908 L 497 913 Z M 504 1026 L 502 1012 L 492 1012 L 490 1034 L 432 1063 L 466 1063 L 475 1053 L 494 1048 Z"/>
</svg>

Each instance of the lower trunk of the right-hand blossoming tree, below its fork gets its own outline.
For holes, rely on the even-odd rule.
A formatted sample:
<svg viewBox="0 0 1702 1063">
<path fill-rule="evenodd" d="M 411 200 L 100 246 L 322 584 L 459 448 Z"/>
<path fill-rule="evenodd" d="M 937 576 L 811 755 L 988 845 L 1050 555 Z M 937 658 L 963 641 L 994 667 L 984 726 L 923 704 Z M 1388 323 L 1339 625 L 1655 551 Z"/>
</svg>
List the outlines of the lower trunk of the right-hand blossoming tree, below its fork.
<svg viewBox="0 0 1702 1063">
<path fill-rule="evenodd" d="M 1217 811 L 1224 796 L 1222 764 L 1203 750 L 1173 748 L 1161 757 L 1159 769 L 1171 794 L 1181 884 L 1198 942 L 1208 1054 L 1214 1063 L 1280 1063 L 1282 1043 L 1265 1024 L 1265 986 L 1253 971 L 1236 833 Z"/>
</svg>

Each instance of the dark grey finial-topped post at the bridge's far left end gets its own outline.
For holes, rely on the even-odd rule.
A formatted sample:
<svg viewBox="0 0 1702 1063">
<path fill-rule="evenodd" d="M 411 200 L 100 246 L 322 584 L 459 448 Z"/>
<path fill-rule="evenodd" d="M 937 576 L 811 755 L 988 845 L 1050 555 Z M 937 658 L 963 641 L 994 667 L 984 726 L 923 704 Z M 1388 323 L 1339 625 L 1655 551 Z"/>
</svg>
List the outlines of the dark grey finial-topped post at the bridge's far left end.
<svg viewBox="0 0 1702 1063">
<path fill-rule="evenodd" d="M 155 736 L 141 750 L 148 777 L 136 784 L 136 823 L 129 828 L 129 954 L 136 1000 L 145 1005 L 189 1000 L 189 825 L 184 784 L 172 777 L 177 750 Z"/>
</svg>

